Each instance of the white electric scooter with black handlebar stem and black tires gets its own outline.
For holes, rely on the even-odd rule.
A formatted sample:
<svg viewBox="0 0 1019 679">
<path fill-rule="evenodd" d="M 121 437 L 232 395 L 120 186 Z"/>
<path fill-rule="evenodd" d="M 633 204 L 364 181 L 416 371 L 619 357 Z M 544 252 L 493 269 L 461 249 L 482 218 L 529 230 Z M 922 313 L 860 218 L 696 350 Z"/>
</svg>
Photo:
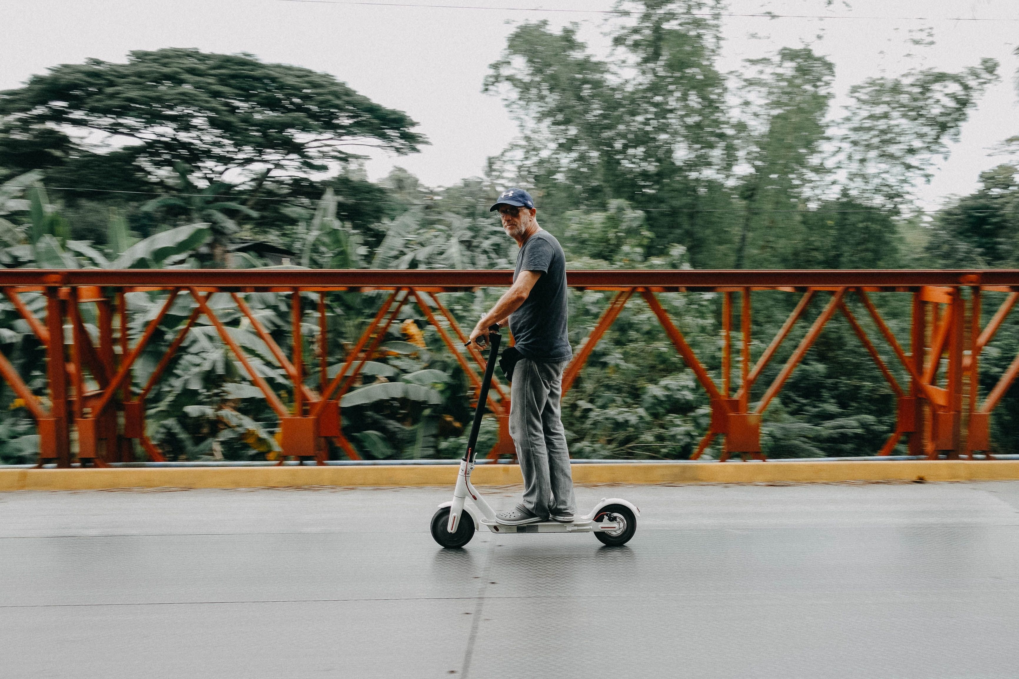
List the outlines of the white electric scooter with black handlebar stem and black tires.
<svg viewBox="0 0 1019 679">
<path fill-rule="evenodd" d="M 495 359 L 499 353 L 499 327 L 489 328 L 490 349 L 488 362 L 485 364 L 485 377 L 481 382 L 478 394 L 478 407 L 474 411 L 474 422 L 471 435 L 467 440 L 467 452 L 460 461 L 460 473 L 457 475 L 457 487 L 450 502 L 439 505 L 438 511 L 432 516 L 432 537 L 447 549 L 464 547 L 474 537 L 474 531 L 482 526 L 492 532 L 593 532 L 603 545 L 618 547 L 626 545 L 637 531 L 637 517 L 640 510 L 636 505 L 620 498 L 602 498 L 587 515 L 579 516 L 573 523 L 558 521 L 542 521 L 524 525 L 503 525 L 495 519 L 495 512 L 481 497 L 471 484 L 471 472 L 474 471 L 474 447 L 478 443 L 478 430 L 481 428 L 481 417 L 485 413 L 488 400 L 488 388 L 495 372 Z M 466 346 L 466 345 L 465 345 Z M 467 503 L 470 497 L 471 504 Z"/>
</svg>

